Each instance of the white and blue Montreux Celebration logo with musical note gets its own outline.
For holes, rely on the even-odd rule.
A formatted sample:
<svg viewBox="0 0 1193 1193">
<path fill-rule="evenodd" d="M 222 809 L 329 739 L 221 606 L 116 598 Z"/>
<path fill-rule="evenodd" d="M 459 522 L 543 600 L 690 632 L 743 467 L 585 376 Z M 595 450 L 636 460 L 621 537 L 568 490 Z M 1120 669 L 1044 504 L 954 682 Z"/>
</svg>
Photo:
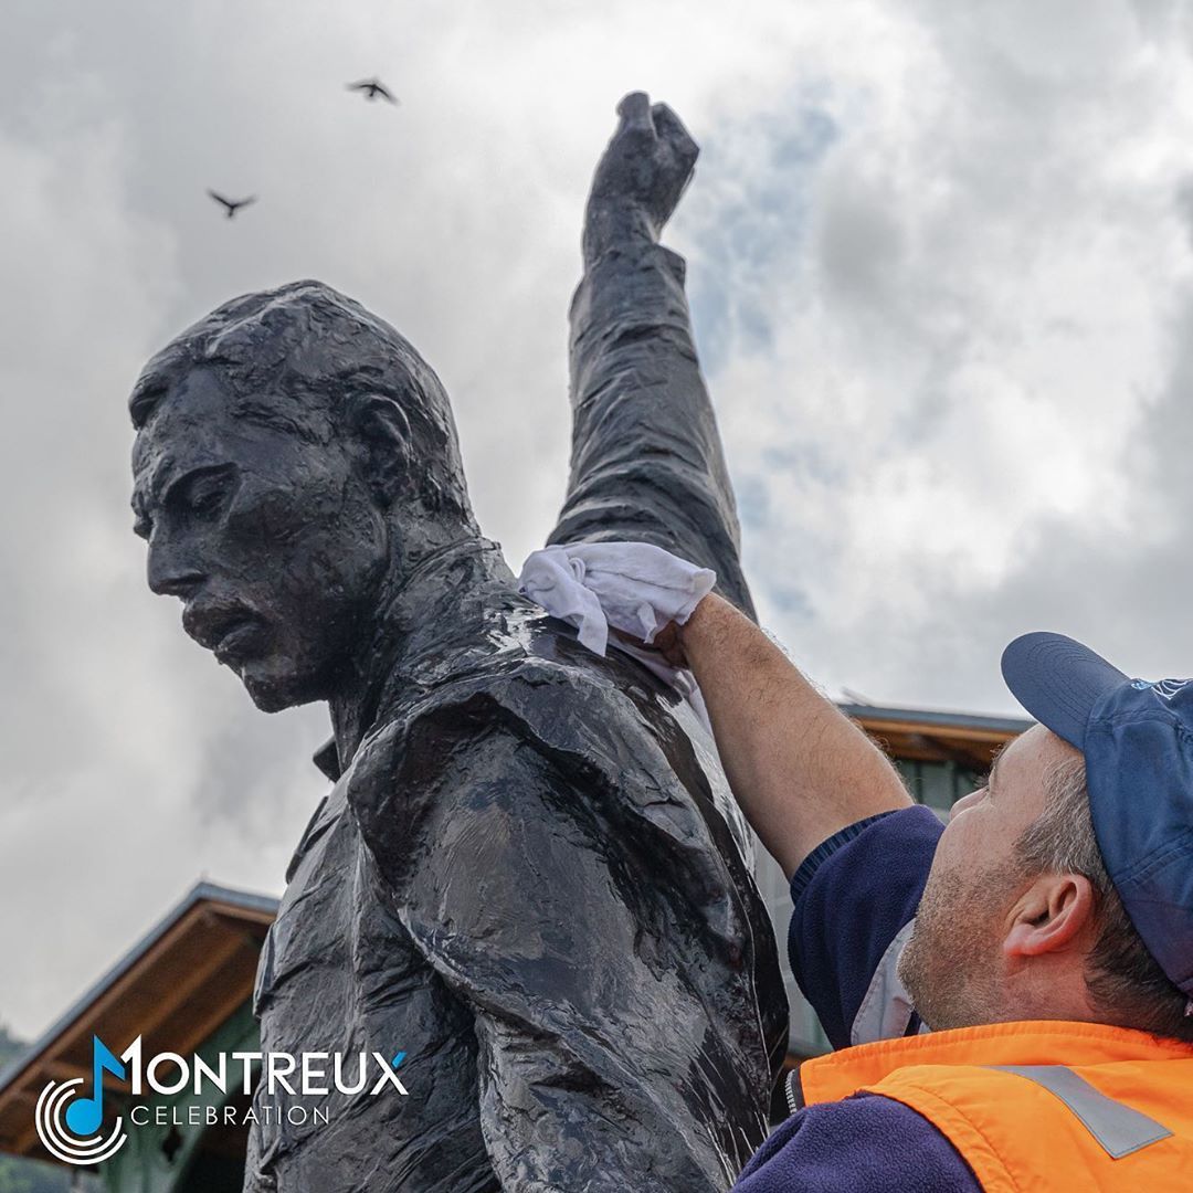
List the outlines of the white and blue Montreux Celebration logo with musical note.
<svg viewBox="0 0 1193 1193">
<path fill-rule="evenodd" d="M 184 1089 L 202 1096 L 210 1090 L 220 1094 L 248 1094 L 258 1076 L 264 1090 L 249 1109 L 239 1113 L 233 1105 L 178 1106 L 132 1105 L 128 1112 L 131 1126 L 245 1125 L 249 1123 L 286 1121 L 291 1125 L 329 1121 L 329 1112 L 305 1105 L 271 1104 L 270 1098 L 284 1090 L 291 1096 L 317 1099 L 338 1090 L 341 1094 L 363 1094 L 370 1086 L 370 1098 L 396 1090 L 406 1098 L 408 1090 L 397 1077 L 397 1069 L 406 1059 L 398 1052 L 387 1061 L 381 1052 L 357 1052 L 347 1057 L 339 1052 L 220 1052 L 214 1063 L 200 1056 L 190 1061 L 177 1052 L 159 1052 L 148 1061 L 142 1055 L 138 1036 L 119 1056 L 98 1037 L 92 1037 L 91 1093 L 84 1096 L 86 1078 L 51 1081 L 37 1099 L 33 1112 L 37 1135 L 45 1150 L 67 1164 L 99 1164 L 111 1160 L 128 1142 L 125 1118 L 117 1114 L 104 1126 L 104 1074 L 128 1082 L 131 1096 L 148 1094 L 173 1096 Z M 261 1090 L 259 1090 L 261 1093 Z"/>
</svg>

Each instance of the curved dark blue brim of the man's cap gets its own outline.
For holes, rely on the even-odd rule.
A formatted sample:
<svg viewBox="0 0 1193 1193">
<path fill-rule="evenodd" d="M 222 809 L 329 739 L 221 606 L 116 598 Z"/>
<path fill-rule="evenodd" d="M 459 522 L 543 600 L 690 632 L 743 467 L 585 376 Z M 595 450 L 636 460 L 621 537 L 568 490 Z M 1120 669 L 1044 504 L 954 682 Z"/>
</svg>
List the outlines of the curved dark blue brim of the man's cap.
<svg viewBox="0 0 1193 1193">
<path fill-rule="evenodd" d="M 1083 750 L 1094 706 L 1127 676 L 1063 633 L 1025 633 L 1002 653 L 1002 678 L 1041 724 Z"/>
</svg>

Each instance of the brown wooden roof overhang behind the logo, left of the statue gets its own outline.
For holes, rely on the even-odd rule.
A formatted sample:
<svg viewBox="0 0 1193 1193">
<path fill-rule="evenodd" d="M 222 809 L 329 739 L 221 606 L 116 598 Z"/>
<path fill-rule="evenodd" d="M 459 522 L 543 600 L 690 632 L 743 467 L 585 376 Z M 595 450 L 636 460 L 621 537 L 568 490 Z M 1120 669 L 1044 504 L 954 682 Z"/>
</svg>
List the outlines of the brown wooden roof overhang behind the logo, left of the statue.
<svg viewBox="0 0 1193 1193">
<path fill-rule="evenodd" d="M 277 901 L 200 883 L 36 1044 L 0 1073 L 0 1151 L 54 1160 L 33 1108 L 49 1081 L 91 1082 L 93 1034 L 187 1056 L 253 993 Z M 113 1084 L 120 1089 L 122 1084 Z"/>
</svg>

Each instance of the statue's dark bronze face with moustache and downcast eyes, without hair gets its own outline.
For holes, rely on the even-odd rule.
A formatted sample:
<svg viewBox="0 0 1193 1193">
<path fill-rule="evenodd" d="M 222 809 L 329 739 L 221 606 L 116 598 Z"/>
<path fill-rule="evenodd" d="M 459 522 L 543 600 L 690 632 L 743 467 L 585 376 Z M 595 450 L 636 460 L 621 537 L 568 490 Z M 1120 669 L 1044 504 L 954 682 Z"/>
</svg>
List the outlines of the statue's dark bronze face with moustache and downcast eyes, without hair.
<svg viewBox="0 0 1193 1193">
<path fill-rule="evenodd" d="M 205 369 L 137 434 L 149 587 L 183 601 L 186 632 L 267 712 L 327 699 L 372 631 L 389 533 L 358 471 L 352 444 L 246 418 Z"/>
</svg>

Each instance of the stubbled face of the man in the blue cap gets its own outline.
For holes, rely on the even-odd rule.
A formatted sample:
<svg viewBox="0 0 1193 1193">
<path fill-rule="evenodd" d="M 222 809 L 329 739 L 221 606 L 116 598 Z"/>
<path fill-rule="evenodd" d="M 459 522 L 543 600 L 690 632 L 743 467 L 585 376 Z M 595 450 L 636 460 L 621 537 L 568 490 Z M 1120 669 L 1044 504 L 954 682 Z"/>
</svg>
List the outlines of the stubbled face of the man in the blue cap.
<svg viewBox="0 0 1193 1193">
<path fill-rule="evenodd" d="M 941 1031 L 1015 1018 L 1006 1006 L 1002 942 L 1031 882 L 1015 845 L 1044 810 L 1049 768 L 1077 752 L 1037 725 L 1000 755 L 990 779 L 952 809 L 937 846 L 900 977 Z"/>
</svg>

